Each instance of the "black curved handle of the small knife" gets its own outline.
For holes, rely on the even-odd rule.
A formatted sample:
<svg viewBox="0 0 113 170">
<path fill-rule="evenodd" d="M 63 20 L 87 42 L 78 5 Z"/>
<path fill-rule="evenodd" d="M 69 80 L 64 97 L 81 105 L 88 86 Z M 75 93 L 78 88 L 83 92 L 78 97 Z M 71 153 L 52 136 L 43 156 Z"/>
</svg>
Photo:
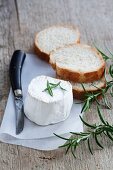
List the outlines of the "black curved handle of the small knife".
<svg viewBox="0 0 113 170">
<path fill-rule="evenodd" d="M 14 51 L 10 62 L 10 81 L 14 96 L 16 97 L 22 96 L 21 72 L 25 57 L 26 54 L 24 52 L 16 50 Z"/>
</svg>

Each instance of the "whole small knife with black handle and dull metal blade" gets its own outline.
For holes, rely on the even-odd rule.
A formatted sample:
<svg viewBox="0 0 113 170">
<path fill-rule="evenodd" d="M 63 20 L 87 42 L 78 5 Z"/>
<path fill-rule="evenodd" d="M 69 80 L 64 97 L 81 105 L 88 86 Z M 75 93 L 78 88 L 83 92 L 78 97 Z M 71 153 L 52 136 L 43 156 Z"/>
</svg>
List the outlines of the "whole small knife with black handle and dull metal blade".
<svg viewBox="0 0 113 170">
<path fill-rule="evenodd" d="M 26 54 L 21 50 L 16 50 L 11 58 L 9 74 L 11 86 L 15 100 L 16 110 L 16 135 L 22 132 L 24 128 L 24 109 L 23 109 L 23 95 L 21 86 L 21 72 Z"/>
</svg>

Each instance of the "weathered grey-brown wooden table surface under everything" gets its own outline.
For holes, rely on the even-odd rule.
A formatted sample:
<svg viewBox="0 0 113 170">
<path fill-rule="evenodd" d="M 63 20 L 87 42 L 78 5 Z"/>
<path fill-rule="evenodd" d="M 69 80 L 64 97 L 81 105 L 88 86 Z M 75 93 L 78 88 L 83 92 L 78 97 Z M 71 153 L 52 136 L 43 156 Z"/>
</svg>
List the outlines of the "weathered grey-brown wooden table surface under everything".
<svg viewBox="0 0 113 170">
<path fill-rule="evenodd" d="M 8 93 L 8 67 L 15 49 L 33 52 L 35 33 L 53 24 L 75 24 L 81 42 L 94 42 L 113 51 L 113 0 L 0 0 L 0 119 Z M 85 113 L 95 122 L 95 105 Z M 112 111 L 107 111 L 112 119 Z M 94 149 L 92 156 L 82 144 L 75 160 L 64 150 L 42 152 L 0 143 L 0 170 L 112 170 L 113 146 L 103 138 L 105 149 Z M 95 146 L 95 144 L 94 144 Z"/>
</svg>

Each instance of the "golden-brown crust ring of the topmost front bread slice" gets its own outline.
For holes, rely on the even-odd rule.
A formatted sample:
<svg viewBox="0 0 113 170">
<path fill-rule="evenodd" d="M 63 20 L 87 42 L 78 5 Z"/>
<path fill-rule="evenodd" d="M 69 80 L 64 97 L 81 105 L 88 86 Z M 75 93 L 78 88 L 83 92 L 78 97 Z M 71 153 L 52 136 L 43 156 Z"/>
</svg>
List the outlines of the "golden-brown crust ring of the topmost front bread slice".
<svg viewBox="0 0 113 170">
<path fill-rule="evenodd" d="M 73 45 L 75 45 L 75 44 L 73 44 Z M 67 47 L 70 47 L 73 45 L 68 45 Z M 56 70 L 57 75 L 63 77 L 64 80 L 70 80 L 70 81 L 78 82 L 78 83 L 88 83 L 88 82 L 93 82 L 93 81 L 99 80 L 102 77 L 104 70 L 105 70 L 105 61 L 104 61 L 102 55 L 95 48 L 92 48 L 88 45 L 82 45 L 82 44 L 76 44 L 76 45 L 90 48 L 94 53 L 96 53 L 96 55 L 101 60 L 101 63 L 102 63 L 101 67 L 95 71 L 86 72 L 86 73 L 85 72 L 81 73 L 79 71 L 76 72 L 76 71 L 69 70 L 66 68 L 61 68 L 58 66 L 57 63 L 53 63 L 53 61 L 51 59 L 51 55 L 53 55 L 54 52 L 51 52 L 51 55 L 50 55 L 51 66 L 53 67 L 53 69 Z M 59 48 L 59 49 L 62 49 L 62 48 Z"/>
</svg>

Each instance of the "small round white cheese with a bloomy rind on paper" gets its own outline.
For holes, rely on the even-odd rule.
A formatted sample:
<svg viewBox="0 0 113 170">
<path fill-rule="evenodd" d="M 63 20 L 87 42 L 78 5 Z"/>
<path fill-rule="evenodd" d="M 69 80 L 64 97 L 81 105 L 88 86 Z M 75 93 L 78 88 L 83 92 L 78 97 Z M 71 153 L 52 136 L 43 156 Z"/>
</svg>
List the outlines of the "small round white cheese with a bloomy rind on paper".
<svg viewBox="0 0 113 170">
<path fill-rule="evenodd" d="M 48 91 L 47 80 L 49 83 L 58 83 L 60 86 L 52 89 L 53 96 Z M 70 114 L 73 104 L 72 85 L 70 82 L 55 79 L 47 76 L 34 78 L 28 87 L 25 99 L 25 115 L 38 125 L 49 125 L 64 121 Z"/>
</svg>

